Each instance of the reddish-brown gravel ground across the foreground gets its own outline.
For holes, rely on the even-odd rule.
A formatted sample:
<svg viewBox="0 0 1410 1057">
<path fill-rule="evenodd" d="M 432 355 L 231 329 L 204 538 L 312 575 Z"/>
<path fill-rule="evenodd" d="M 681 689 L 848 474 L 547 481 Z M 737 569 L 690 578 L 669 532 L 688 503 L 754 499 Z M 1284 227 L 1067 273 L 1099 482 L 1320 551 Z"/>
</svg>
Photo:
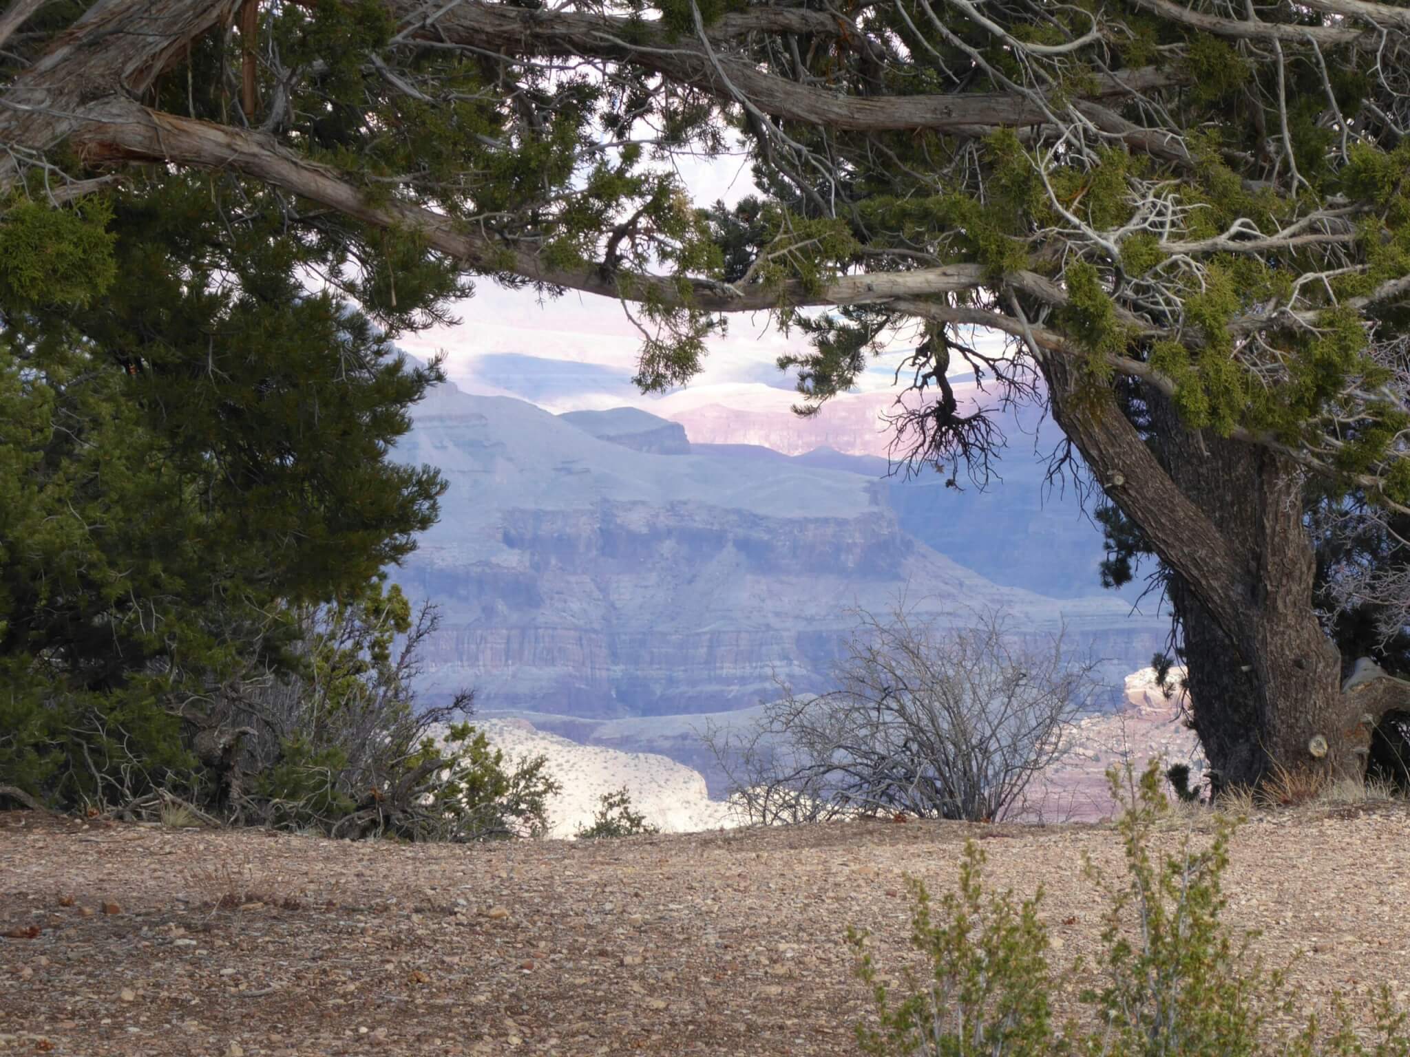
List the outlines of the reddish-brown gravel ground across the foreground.
<svg viewBox="0 0 1410 1057">
<path fill-rule="evenodd" d="M 0 1053 L 854 1053 L 847 925 L 901 965 L 904 875 L 949 888 L 966 837 L 995 886 L 1042 881 L 1066 1016 L 1101 932 L 1080 855 L 1120 870 L 1108 826 L 407 847 L 0 815 Z M 1303 948 L 1310 1002 L 1410 999 L 1406 805 L 1259 815 L 1231 860 L 1228 920 L 1275 964 Z"/>
</svg>

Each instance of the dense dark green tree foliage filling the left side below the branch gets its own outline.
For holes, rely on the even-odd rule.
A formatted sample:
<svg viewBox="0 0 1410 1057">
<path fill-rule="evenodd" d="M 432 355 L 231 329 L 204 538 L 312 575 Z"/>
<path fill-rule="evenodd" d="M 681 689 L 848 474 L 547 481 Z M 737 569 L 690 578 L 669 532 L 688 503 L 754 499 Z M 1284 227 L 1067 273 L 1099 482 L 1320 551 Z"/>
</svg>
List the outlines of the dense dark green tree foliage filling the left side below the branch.
<svg viewBox="0 0 1410 1057">
<path fill-rule="evenodd" d="M 290 671 L 300 607 L 360 591 L 434 523 L 444 482 L 389 450 L 441 372 L 305 289 L 345 252 L 209 178 L 7 204 L 0 781 L 58 808 L 214 796 L 196 702 Z M 454 289 L 417 252 L 395 258 L 398 326 Z M 337 762 L 298 740 L 289 758 L 279 781 Z"/>
</svg>

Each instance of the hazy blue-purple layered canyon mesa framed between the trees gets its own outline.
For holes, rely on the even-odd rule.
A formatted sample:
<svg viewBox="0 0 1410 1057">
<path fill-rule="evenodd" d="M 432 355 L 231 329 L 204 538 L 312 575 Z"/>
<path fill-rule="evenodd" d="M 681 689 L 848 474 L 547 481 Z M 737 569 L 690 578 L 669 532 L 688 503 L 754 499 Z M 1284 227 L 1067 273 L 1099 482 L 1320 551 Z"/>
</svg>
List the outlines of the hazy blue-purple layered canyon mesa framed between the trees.
<svg viewBox="0 0 1410 1057">
<path fill-rule="evenodd" d="M 747 707 L 778 696 L 776 676 L 823 689 L 852 610 L 901 595 L 940 626 L 986 607 L 1042 640 L 1066 623 L 1117 684 L 1165 641 L 1162 620 L 1096 586 L 1055 599 L 946 557 L 943 507 L 908 514 L 928 526 L 918 538 L 869 461 L 699 448 L 644 412 L 556 417 L 451 385 L 398 454 L 450 482 L 440 524 L 393 572 L 441 609 L 426 699 L 472 686 L 481 709 L 588 719 Z M 1080 561 L 1094 562 L 1087 533 Z M 1072 562 L 1055 541 L 1001 520 L 984 540 L 1000 562 Z"/>
</svg>

